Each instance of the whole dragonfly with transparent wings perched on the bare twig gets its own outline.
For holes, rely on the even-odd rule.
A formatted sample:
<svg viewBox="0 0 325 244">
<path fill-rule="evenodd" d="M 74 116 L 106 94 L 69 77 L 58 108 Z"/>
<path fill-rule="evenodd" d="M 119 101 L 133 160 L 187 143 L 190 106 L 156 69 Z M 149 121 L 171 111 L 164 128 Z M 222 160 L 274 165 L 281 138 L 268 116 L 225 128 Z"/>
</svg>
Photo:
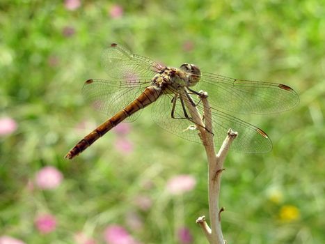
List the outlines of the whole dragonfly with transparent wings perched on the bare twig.
<svg viewBox="0 0 325 244">
<path fill-rule="evenodd" d="M 134 121 L 149 105 L 152 119 L 159 127 L 200 143 L 197 130 L 193 130 L 198 125 L 188 109 L 194 106 L 198 112 L 204 112 L 198 91 L 208 93 L 214 128 L 211 133 L 216 146 L 221 146 L 228 129 L 232 128 L 239 137 L 230 149 L 240 153 L 266 153 L 272 149 L 267 133 L 229 112 L 274 114 L 299 104 L 296 91 L 285 84 L 201 72 L 198 66 L 189 63 L 183 63 L 180 68 L 163 66 L 116 43 L 104 50 L 102 66 L 109 79 L 88 79 L 82 93 L 90 105 L 110 119 L 81 139 L 65 158 L 79 155 L 118 123 Z"/>
</svg>

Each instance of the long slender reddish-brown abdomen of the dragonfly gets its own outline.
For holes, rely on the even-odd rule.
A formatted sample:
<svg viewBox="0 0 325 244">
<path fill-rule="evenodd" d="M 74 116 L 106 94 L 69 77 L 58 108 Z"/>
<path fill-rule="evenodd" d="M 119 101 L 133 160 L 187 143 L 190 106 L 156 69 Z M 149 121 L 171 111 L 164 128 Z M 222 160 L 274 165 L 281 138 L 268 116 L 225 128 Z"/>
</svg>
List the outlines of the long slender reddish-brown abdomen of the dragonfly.
<svg viewBox="0 0 325 244">
<path fill-rule="evenodd" d="M 135 112 L 144 107 L 147 107 L 152 102 L 156 101 L 161 95 L 161 88 L 156 85 L 148 86 L 143 93 L 138 96 L 133 102 L 131 102 L 127 107 L 122 109 L 120 112 L 113 115 L 109 120 L 102 123 L 95 130 L 90 132 L 84 139 L 81 139 L 70 151 L 65 155 L 65 158 L 72 159 L 74 156 L 83 152 L 88 146 L 93 144 L 97 139 L 102 137 L 109 132 L 113 127 L 127 119 Z"/>
</svg>

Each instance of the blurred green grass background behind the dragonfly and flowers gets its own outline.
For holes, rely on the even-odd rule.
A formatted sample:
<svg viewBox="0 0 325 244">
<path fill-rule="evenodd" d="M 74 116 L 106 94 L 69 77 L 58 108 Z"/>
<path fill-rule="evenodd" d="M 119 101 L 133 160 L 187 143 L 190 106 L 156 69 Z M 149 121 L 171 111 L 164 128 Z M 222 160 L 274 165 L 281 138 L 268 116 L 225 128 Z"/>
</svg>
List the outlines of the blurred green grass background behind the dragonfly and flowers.
<svg viewBox="0 0 325 244">
<path fill-rule="evenodd" d="M 240 116 L 266 130 L 274 150 L 230 153 L 223 231 L 228 243 L 324 243 L 325 1 L 119 1 L 124 13 L 115 19 L 113 4 L 84 1 L 72 11 L 61 1 L 0 3 L 0 115 L 18 124 L 0 138 L 0 235 L 72 243 L 73 233 L 84 230 L 102 240 L 107 224 L 125 225 L 127 213 L 136 212 L 143 228 L 129 231 L 142 243 L 177 243 L 174 231 L 182 225 L 194 243 L 206 243 L 195 224 L 208 213 L 203 148 L 162 131 L 148 111 L 132 123 L 130 155 L 116 151 L 117 136 L 109 133 L 76 160 L 63 159 L 93 129 L 75 130 L 78 123 L 105 119 L 93 117 L 80 89 L 86 79 L 106 77 L 102 49 L 120 43 L 169 66 L 196 63 L 294 87 L 301 103 L 290 112 Z M 71 36 L 63 33 L 67 27 Z M 26 188 L 45 165 L 63 171 L 63 185 Z M 164 190 L 177 174 L 198 181 L 182 199 Z M 152 199 L 149 211 L 132 204 L 138 195 Z M 284 206 L 295 206 L 300 217 L 281 220 Z M 41 211 L 59 223 L 46 241 L 33 226 Z"/>
</svg>

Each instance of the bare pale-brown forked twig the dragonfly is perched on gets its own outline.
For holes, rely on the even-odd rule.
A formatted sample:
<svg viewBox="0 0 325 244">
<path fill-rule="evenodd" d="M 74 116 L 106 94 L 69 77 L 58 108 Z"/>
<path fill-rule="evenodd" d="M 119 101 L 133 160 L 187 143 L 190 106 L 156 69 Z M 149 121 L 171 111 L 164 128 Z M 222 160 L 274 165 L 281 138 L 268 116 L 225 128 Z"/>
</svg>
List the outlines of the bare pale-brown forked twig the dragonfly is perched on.
<svg viewBox="0 0 325 244">
<path fill-rule="evenodd" d="M 203 102 L 203 116 L 200 116 L 197 107 L 191 106 L 191 102 L 187 96 L 183 96 L 186 101 L 187 109 L 191 114 L 193 122 L 196 123 L 196 128 L 199 130 L 199 136 L 205 147 L 208 162 L 208 192 L 209 192 L 209 220 L 210 225 L 205 221 L 205 216 L 196 220 L 196 223 L 201 227 L 205 237 L 210 244 L 225 244 L 221 231 L 221 212 L 224 208 L 219 208 L 219 192 L 221 187 L 221 173 L 223 170 L 223 162 L 227 155 L 232 141 L 237 137 L 238 133 L 228 130 L 227 136 L 223 141 L 219 152 L 214 151 L 214 138 L 212 134 L 212 114 L 209 102 L 207 100 L 207 93 L 200 91 L 200 100 Z"/>
</svg>

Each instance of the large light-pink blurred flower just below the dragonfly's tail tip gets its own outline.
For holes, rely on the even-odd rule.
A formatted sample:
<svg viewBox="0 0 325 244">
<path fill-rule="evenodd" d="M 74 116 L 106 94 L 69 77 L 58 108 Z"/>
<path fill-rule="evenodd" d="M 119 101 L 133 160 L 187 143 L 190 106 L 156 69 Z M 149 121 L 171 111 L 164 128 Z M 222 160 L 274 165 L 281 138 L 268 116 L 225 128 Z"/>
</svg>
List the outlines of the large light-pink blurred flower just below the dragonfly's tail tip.
<svg viewBox="0 0 325 244">
<path fill-rule="evenodd" d="M 61 184 L 63 176 L 58 169 L 52 166 L 43 167 L 35 177 L 36 185 L 43 190 L 57 188 Z"/>
</svg>

